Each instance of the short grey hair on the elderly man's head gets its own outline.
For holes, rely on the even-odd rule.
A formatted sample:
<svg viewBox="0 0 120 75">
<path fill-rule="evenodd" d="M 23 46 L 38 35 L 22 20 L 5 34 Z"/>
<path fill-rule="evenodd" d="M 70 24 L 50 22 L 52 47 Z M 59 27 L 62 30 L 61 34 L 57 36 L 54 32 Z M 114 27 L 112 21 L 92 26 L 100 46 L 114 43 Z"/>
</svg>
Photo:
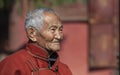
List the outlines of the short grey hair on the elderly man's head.
<svg viewBox="0 0 120 75">
<path fill-rule="evenodd" d="M 53 13 L 57 15 L 57 13 L 53 9 L 50 9 L 50 8 L 35 9 L 29 12 L 26 16 L 25 29 L 27 29 L 29 26 L 32 26 L 32 27 L 35 27 L 37 30 L 40 30 L 44 24 L 44 13 L 45 12 L 49 12 L 49 13 Z"/>
</svg>

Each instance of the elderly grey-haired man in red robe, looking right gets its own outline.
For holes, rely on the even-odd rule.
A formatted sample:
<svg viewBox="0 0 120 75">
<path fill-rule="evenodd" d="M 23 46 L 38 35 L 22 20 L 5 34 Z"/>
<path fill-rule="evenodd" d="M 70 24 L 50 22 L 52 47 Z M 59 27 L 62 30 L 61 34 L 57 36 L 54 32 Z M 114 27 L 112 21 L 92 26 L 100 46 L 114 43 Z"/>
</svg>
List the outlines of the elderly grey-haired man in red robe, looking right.
<svg viewBox="0 0 120 75">
<path fill-rule="evenodd" d="M 72 75 L 57 54 L 63 39 L 57 13 L 49 8 L 33 10 L 26 16 L 25 28 L 28 43 L 0 63 L 0 75 Z"/>
</svg>

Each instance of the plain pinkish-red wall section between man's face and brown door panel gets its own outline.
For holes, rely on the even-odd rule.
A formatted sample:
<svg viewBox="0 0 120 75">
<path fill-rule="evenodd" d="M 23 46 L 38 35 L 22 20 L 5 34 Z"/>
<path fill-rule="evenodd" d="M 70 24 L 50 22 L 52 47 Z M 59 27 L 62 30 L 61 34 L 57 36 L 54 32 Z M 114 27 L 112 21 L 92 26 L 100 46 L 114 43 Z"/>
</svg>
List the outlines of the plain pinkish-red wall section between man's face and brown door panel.
<svg viewBox="0 0 120 75">
<path fill-rule="evenodd" d="M 110 70 L 88 70 L 88 32 L 86 23 L 64 24 L 61 61 L 69 66 L 73 75 L 110 75 Z"/>
</svg>

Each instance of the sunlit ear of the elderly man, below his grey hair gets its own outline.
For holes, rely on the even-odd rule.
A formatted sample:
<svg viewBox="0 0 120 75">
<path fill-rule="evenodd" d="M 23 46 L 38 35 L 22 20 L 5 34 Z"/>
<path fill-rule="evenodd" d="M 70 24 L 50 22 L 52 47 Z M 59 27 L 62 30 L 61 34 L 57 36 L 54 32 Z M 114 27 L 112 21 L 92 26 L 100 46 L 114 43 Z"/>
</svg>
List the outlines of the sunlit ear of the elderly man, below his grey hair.
<svg viewBox="0 0 120 75">
<path fill-rule="evenodd" d="M 27 28 L 27 36 L 31 41 L 33 42 L 37 41 L 36 35 L 37 35 L 37 30 L 35 27 L 30 26 Z"/>
</svg>

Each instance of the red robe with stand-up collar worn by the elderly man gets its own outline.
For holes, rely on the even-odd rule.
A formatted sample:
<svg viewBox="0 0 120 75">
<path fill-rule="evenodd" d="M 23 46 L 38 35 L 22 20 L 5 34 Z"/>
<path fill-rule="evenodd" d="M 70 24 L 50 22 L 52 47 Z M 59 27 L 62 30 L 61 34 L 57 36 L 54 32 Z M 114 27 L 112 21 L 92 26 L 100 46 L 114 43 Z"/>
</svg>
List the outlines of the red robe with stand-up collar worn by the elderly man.
<svg viewBox="0 0 120 75">
<path fill-rule="evenodd" d="M 26 47 L 0 62 L 0 75 L 72 75 L 59 57 L 49 64 L 47 52 L 29 43 Z"/>
</svg>

